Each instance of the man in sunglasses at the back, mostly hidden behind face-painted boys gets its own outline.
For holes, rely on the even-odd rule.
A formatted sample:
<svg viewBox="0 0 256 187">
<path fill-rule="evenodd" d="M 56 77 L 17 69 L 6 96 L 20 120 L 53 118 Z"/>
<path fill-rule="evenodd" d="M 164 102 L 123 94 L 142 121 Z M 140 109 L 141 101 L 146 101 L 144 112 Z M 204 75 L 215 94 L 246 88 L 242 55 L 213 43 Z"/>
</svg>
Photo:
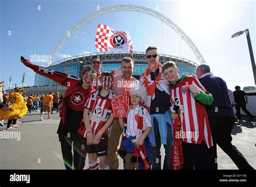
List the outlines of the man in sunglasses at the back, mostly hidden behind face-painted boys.
<svg viewBox="0 0 256 187">
<path fill-rule="evenodd" d="M 91 67 L 97 72 L 97 80 L 93 82 L 92 86 L 95 89 L 98 89 L 99 86 L 102 86 L 100 83 L 100 74 L 102 74 L 102 58 L 99 56 L 93 56 L 91 61 Z M 113 75 L 118 75 L 122 73 L 121 69 L 110 71 Z"/>
</svg>

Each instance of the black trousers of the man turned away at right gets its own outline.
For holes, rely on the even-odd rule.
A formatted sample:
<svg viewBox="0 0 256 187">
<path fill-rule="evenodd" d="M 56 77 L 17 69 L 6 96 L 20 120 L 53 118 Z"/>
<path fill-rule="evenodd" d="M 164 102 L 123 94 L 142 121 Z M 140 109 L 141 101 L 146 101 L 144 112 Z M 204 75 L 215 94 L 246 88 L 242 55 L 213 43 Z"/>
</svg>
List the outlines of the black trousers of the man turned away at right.
<svg viewBox="0 0 256 187">
<path fill-rule="evenodd" d="M 209 169 L 218 169 L 217 144 L 237 165 L 238 169 L 253 169 L 240 151 L 231 143 L 231 131 L 235 123 L 235 117 L 208 116 L 208 120 L 214 145 L 208 149 Z"/>
</svg>

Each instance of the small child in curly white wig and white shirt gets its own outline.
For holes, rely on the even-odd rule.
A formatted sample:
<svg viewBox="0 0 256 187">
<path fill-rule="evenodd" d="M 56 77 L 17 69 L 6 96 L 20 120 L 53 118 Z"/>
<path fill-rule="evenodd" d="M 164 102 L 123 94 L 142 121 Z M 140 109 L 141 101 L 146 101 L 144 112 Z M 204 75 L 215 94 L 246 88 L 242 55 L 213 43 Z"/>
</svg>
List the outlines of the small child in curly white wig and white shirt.
<svg viewBox="0 0 256 187">
<path fill-rule="evenodd" d="M 120 147 L 126 150 L 125 154 L 120 155 L 125 160 L 124 169 L 136 168 L 136 164 L 131 160 L 134 154 L 134 147 L 144 146 L 146 154 L 150 154 L 148 135 L 150 134 L 152 125 L 149 112 L 146 108 L 142 107 L 146 99 L 147 89 L 144 85 L 139 85 L 139 87 L 136 84 L 131 85 L 131 105 L 125 120 L 127 121 L 126 124 L 124 123 L 123 117 L 119 117 L 119 125 L 123 129 L 124 136 Z M 150 157 L 147 156 L 147 159 L 150 159 Z"/>
</svg>

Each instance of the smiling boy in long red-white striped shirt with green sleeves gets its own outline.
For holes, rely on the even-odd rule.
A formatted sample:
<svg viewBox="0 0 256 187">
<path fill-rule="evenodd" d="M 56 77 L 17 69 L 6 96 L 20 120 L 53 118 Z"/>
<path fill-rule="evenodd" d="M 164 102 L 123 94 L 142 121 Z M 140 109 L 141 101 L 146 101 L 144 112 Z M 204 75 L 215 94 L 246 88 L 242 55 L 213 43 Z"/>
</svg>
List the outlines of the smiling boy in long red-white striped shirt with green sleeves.
<svg viewBox="0 0 256 187">
<path fill-rule="evenodd" d="M 208 169 L 207 149 L 213 146 L 212 135 L 204 105 L 211 105 L 213 97 L 197 78 L 179 77 L 179 68 L 173 61 L 164 64 L 163 73 L 171 82 L 170 100 L 172 119 L 180 117 L 184 157 L 183 169 Z M 180 115 L 173 106 L 179 106 Z"/>
</svg>

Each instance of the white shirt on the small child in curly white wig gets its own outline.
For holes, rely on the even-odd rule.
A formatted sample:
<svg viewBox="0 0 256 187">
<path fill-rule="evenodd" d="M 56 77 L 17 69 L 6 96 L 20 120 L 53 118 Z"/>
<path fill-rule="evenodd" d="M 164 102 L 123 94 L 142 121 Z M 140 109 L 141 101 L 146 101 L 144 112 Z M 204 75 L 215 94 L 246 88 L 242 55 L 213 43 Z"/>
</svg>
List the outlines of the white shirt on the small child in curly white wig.
<svg viewBox="0 0 256 187">
<path fill-rule="evenodd" d="M 126 135 L 129 134 L 129 136 L 136 136 L 137 129 L 138 129 L 137 128 L 138 119 L 139 119 L 139 106 L 136 107 L 135 109 L 130 108 L 127 115 Z M 142 130 L 145 130 L 146 127 L 152 127 L 152 126 L 150 121 L 150 114 L 146 108 L 143 108 L 143 129 Z"/>
</svg>

